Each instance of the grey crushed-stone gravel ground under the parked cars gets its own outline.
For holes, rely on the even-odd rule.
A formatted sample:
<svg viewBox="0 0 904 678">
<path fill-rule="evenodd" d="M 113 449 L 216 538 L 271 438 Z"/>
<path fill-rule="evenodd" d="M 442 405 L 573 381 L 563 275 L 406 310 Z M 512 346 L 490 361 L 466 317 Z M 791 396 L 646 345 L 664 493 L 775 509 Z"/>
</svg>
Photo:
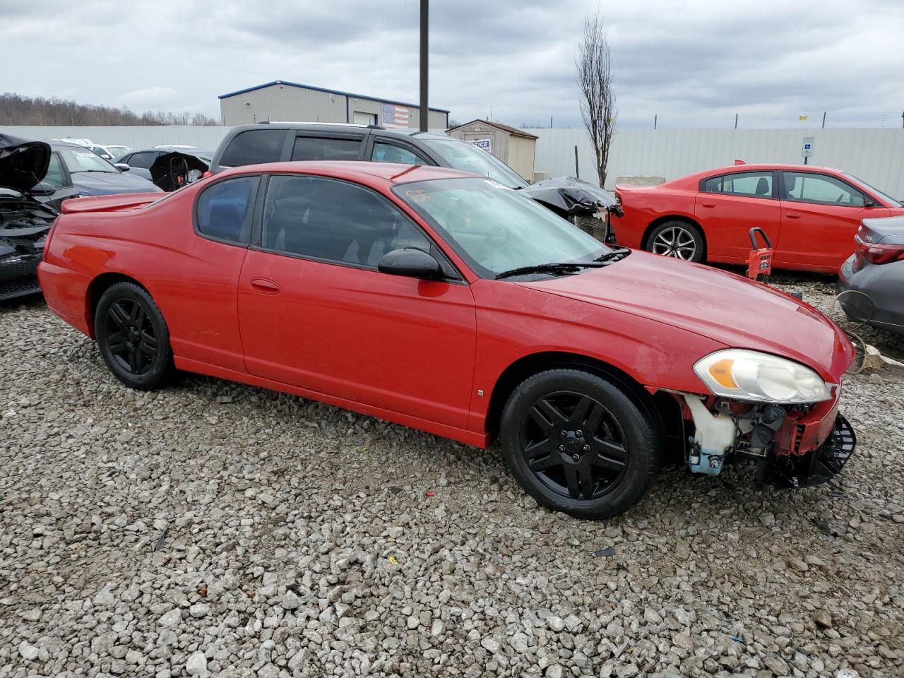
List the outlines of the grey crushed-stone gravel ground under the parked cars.
<svg viewBox="0 0 904 678">
<path fill-rule="evenodd" d="M 0 337 L 0 678 L 904 675 L 899 373 L 845 382 L 830 485 L 672 467 L 586 523 L 498 447 L 202 377 L 129 391 L 40 299 Z"/>
</svg>

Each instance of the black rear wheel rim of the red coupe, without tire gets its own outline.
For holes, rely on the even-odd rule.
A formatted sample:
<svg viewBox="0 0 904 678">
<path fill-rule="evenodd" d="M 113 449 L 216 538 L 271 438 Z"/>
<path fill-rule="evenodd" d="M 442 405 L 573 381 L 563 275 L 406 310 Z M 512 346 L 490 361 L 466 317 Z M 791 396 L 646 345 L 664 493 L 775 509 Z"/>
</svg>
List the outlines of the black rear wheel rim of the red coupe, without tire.
<svg viewBox="0 0 904 678">
<path fill-rule="evenodd" d="M 118 299 L 107 311 L 107 347 L 118 367 L 140 375 L 151 369 L 157 355 L 154 325 L 135 299 Z"/>
</svg>

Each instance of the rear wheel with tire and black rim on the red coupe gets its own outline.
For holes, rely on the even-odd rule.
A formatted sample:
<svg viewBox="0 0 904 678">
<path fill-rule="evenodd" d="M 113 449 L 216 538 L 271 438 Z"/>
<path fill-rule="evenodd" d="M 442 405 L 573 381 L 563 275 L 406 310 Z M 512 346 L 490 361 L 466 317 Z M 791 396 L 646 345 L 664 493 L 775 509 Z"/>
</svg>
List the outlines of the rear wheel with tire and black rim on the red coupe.
<svg viewBox="0 0 904 678">
<path fill-rule="evenodd" d="M 100 296 L 94 335 L 109 371 L 133 389 L 153 391 L 174 372 L 164 316 L 135 283 L 118 282 Z"/>
</svg>

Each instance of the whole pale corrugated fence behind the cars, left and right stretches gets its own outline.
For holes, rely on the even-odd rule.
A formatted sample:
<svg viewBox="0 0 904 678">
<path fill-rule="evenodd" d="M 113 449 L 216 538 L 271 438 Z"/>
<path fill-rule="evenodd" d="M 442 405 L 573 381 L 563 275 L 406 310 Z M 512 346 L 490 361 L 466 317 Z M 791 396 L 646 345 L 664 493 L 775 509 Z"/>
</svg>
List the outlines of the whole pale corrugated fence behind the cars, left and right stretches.
<svg viewBox="0 0 904 678">
<path fill-rule="evenodd" d="M 144 148 L 165 144 L 214 149 L 231 127 L 0 127 L 14 137 L 89 138 L 98 144 Z M 430 130 L 441 131 L 441 130 Z M 538 127 L 538 172 L 574 175 L 578 146 L 579 176 L 597 181 L 593 149 L 583 128 Z M 622 129 L 609 149 L 607 187 L 618 176 L 644 174 L 666 180 L 711 167 L 749 163 L 803 162 L 804 137 L 813 137 L 811 165 L 845 169 L 868 184 L 904 198 L 904 129 Z"/>
</svg>

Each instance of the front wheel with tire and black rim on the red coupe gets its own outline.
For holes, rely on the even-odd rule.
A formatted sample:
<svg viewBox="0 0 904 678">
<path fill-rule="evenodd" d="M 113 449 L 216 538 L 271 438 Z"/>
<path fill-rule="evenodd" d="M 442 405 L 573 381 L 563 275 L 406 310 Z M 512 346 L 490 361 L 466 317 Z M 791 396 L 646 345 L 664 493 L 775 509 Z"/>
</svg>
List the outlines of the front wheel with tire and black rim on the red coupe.
<svg viewBox="0 0 904 678">
<path fill-rule="evenodd" d="M 600 520 L 624 513 L 653 484 L 659 426 L 612 381 L 573 369 L 535 374 L 505 403 L 505 462 L 553 511 Z"/>
</svg>

